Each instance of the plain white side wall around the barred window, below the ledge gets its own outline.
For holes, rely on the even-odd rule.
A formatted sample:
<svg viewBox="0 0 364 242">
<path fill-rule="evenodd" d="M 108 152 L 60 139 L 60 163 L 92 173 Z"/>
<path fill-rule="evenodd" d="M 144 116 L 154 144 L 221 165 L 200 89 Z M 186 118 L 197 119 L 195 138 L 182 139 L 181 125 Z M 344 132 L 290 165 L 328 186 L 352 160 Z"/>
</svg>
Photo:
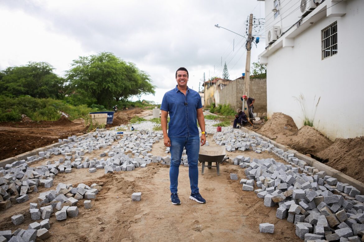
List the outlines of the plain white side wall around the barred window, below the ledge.
<svg viewBox="0 0 364 242">
<path fill-rule="evenodd" d="M 324 17 L 294 38 L 294 47 L 268 57 L 267 109 L 291 116 L 300 128 L 303 112 L 295 97 L 305 98 L 314 127 L 329 139 L 364 135 L 364 1 L 346 1 L 342 17 Z M 321 60 L 321 30 L 337 21 L 338 53 Z"/>
</svg>

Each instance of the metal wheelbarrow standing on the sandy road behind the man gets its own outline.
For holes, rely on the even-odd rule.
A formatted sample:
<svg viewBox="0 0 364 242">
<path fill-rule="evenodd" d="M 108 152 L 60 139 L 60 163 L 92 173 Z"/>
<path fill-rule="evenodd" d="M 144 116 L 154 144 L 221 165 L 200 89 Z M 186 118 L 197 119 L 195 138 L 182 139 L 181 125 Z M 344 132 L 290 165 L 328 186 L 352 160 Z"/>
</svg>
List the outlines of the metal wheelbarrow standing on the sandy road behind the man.
<svg viewBox="0 0 364 242">
<path fill-rule="evenodd" d="M 220 175 L 220 169 L 219 164 L 223 162 L 224 160 L 229 159 L 229 157 L 225 157 L 226 151 L 225 146 L 218 146 L 218 147 L 212 147 L 212 146 L 201 146 L 200 152 L 198 153 L 198 161 L 202 163 L 202 172 L 205 170 L 205 166 L 209 169 L 211 167 L 217 168 L 217 175 Z M 207 165 L 205 163 L 207 162 Z M 213 162 L 216 162 L 216 165 L 212 165 Z"/>
</svg>

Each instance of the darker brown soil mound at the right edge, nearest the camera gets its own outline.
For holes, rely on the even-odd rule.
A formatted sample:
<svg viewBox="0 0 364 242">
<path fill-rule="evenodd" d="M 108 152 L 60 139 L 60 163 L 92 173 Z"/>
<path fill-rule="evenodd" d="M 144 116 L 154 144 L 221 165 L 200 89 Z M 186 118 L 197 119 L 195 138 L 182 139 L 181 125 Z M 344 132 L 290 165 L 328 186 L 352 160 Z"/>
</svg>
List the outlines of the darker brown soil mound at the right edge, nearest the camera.
<svg viewBox="0 0 364 242">
<path fill-rule="evenodd" d="M 318 152 L 317 157 L 330 167 L 364 182 L 364 136 L 353 139 L 337 138 L 335 142 Z"/>
</svg>

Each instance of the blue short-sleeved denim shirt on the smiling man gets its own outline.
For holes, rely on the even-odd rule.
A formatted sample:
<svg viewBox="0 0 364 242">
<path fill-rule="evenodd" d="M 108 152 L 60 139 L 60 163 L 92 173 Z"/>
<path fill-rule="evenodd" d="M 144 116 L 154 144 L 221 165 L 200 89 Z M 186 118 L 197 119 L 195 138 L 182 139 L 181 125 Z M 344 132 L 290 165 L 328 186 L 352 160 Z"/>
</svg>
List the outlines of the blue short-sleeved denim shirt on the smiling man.
<svg viewBox="0 0 364 242">
<path fill-rule="evenodd" d="M 187 86 L 186 96 L 178 90 L 167 91 L 162 100 L 161 110 L 169 112 L 169 137 L 198 135 L 197 109 L 202 108 L 201 97 L 197 91 Z"/>
</svg>

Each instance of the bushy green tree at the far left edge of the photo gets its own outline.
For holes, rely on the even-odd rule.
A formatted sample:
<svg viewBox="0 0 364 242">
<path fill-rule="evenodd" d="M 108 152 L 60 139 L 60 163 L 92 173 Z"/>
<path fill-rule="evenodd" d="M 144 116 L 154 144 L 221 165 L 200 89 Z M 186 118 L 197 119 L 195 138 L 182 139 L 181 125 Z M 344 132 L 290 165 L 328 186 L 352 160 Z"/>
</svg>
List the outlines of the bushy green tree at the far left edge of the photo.
<svg viewBox="0 0 364 242">
<path fill-rule="evenodd" d="M 8 67 L 0 73 L 0 95 L 34 98 L 63 98 L 64 79 L 58 77 L 47 62 L 28 62 Z"/>
</svg>

